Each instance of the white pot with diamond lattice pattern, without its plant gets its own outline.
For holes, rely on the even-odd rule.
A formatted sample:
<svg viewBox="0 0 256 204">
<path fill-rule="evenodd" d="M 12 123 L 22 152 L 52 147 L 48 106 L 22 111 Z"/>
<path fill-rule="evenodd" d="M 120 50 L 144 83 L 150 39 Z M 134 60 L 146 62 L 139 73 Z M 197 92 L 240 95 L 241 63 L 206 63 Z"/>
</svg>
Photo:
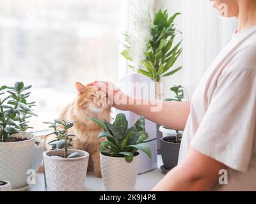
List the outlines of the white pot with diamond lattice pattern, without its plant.
<svg viewBox="0 0 256 204">
<path fill-rule="evenodd" d="M 89 153 L 69 149 L 68 154 L 78 152 L 81 157 L 58 158 L 63 150 L 44 152 L 45 181 L 48 191 L 83 191 L 87 173 Z"/>
</svg>

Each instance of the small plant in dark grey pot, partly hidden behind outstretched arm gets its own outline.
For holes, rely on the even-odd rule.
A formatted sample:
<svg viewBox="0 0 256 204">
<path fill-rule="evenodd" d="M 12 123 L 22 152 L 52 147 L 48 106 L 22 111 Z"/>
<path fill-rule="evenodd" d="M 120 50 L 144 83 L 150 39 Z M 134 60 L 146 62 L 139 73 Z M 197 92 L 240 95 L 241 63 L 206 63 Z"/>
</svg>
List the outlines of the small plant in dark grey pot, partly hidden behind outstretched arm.
<svg viewBox="0 0 256 204">
<path fill-rule="evenodd" d="M 181 85 L 174 86 L 170 90 L 175 93 L 175 98 L 167 98 L 166 101 L 182 101 L 183 87 Z M 164 128 L 163 126 L 159 128 L 159 131 L 163 133 L 163 138 L 161 138 L 163 166 L 161 166 L 161 170 L 167 172 L 177 166 L 182 131 Z"/>
</svg>

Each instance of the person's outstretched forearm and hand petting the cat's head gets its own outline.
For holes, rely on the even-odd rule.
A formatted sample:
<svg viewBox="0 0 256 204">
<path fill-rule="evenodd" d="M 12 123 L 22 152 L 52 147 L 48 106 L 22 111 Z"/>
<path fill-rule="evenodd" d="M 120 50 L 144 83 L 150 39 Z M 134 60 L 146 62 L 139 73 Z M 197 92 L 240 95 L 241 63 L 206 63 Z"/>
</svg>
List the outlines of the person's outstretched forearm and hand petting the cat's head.
<svg viewBox="0 0 256 204">
<path fill-rule="evenodd" d="M 92 82 L 98 89 L 106 92 L 113 106 L 119 110 L 129 110 L 138 115 L 145 115 L 148 120 L 161 124 L 166 128 L 183 130 L 190 112 L 189 102 L 157 101 L 143 98 L 132 98 L 116 88 L 111 82 Z M 132 103 L 131 103 L 132 102 Z M 140 104 L 140 105 L 136 105 Z M 159 105 L 159 110 L 152 111 Z"/>
</svg>

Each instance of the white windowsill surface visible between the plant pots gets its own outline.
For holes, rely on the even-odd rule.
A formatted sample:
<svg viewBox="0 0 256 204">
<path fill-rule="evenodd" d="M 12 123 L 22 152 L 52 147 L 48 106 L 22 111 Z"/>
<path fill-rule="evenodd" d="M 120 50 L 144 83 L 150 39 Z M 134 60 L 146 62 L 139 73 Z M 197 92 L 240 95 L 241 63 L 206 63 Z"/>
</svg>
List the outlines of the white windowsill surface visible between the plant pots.
<svg viewBox="0 0 256 204">
<path fill-rule="evenodd" d="M 161 156 L 157 156 L 158 168 L 147 173 L 138 175 L 134 191 L 150 191 L 157 182 L 164 177 L 164 173 L 159 169 L 163 164 Z M 36 185 L 31 185 L 28 191 L 46 191 L 44 186 L 44 174 L 36 174 Z M 84 191 L 106 191 L 102 179 L 95 177 L 93 173 L 87 173 Z"/>
</svg>

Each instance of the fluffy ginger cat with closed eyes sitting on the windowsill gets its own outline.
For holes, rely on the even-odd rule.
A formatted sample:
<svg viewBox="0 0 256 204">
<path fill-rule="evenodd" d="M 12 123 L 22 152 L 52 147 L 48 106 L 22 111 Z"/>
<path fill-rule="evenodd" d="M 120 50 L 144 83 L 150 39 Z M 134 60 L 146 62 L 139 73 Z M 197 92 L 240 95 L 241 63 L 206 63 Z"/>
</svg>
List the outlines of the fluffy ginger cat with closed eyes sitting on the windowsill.
<svg viewBox="0 0 256 204">
<path fill-rule="evenodd" d="M 70 129 L 70 132 L 76 135 L 72 149 L 88 152 L 90 154 L 88 171 L 93 171 L 97 177 L 101 177 L 99 142 L 102 142 L 103 139 L 99 139 L 97 136 L 103 129 L 88 118 L 97 117 L 110 122 L 111 106 L 108 105 L 106 94 L 95 87 L 85 87 L 77 82 L 76 89 L 77 98 L 63 109 L 60 117 L 76 121 Z M 54 136 L 49 136 L 47 142 L 51 141 L 52 137 Z M 47 147 L 47 149 L 51 149 L 51 147 Z"/>
</svg>

